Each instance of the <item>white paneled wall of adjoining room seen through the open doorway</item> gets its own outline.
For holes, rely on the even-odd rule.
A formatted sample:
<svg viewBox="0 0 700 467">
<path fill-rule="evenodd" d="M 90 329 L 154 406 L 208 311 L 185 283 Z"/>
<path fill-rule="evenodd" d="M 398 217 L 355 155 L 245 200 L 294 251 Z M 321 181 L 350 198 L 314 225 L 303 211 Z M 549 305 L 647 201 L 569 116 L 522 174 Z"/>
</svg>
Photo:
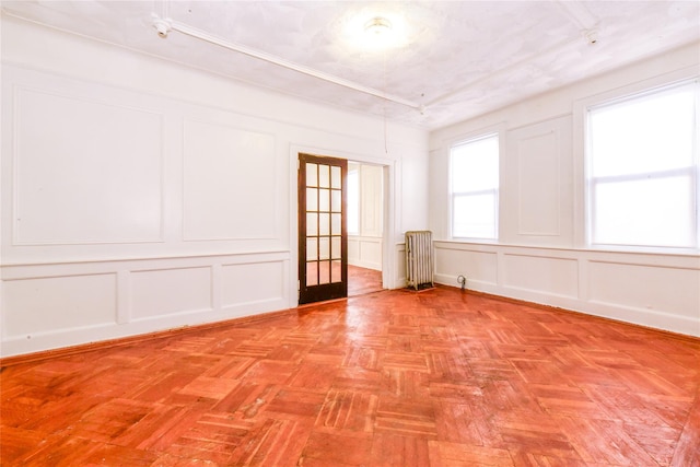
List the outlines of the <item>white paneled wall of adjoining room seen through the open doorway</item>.
<svg viewBox="0 0 700 467">
<path fill-rule="evenodd" d="M 359 185 L 359 232 L 348 234 L 348 264 L 382 270 L 384 221 L 384 168 L 380 165 L 348 164 L 357 171 Z"/>
</svg>

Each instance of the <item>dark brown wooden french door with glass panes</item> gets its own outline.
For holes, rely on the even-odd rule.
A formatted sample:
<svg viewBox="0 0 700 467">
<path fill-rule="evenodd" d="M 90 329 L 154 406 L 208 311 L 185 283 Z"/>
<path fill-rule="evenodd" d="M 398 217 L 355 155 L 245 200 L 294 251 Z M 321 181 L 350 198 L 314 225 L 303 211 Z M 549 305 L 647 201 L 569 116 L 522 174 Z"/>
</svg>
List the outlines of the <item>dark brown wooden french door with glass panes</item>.
<svg viewBox="0 0 700 467">
<path fill-rule="evenodd" d="M 299 154 L 299 303 L 348 296 L 345 159 Z"/>
</svg>

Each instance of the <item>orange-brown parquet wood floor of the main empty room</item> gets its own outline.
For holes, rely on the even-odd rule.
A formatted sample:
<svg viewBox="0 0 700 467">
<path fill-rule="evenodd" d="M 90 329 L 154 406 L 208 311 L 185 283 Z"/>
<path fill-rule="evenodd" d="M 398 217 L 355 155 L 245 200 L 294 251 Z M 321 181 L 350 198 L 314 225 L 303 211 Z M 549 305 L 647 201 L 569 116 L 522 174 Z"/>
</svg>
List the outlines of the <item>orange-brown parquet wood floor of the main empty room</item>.
<svg viewBox="0 0 700 467">
<path fill-rule="evenodd" d="M 0 378 L 3 466 L 700 466 L 700 339 L 454 288 Z"/>
</svg>

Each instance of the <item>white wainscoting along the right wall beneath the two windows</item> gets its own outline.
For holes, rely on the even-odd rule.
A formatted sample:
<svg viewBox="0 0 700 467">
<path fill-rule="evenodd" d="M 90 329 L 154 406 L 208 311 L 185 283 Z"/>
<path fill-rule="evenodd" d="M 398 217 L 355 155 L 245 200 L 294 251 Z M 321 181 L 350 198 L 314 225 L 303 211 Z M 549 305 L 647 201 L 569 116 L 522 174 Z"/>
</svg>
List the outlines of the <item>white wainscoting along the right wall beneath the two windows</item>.
<svg viewBox="0 0 700 467">
<path fill-rule="evenodd" d="M 698 256 L 434 244 L 439 283 L 700 336 Z"/>
</svg>

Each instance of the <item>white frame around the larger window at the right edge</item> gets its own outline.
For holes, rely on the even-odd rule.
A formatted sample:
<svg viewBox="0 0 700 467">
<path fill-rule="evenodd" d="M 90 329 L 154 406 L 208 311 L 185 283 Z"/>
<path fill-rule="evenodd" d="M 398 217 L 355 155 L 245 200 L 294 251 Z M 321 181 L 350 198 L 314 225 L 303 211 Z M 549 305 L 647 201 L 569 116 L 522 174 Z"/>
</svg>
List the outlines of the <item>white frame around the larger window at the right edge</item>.
<svg viewBox="0 0 700 467">
<path fill-rule="evenodd" d="M 665 80 L 648 80 L 637 83 L 634 85 L 626 86 L 622 90 L 616 90 L 605 93 L 599 96 L 595 96 L 585 101 L 575 103 L 575 115 L 579 119 L 574 119 L 574 131 L 579 130 L 580 135 L 574 135 L 574 143 L 581 141 L 582 154 L 581 154 L 581 177 L 580 183 L 582 187 L 582 198 L 578 202 L 578 206 L 582 207 L 582 220 L 580 222 L 580 229 L 575 229 L 581 232 L 582 238 L 579 237 L 578 244 L 594 250 L 611 250 L 623 253 L 661 253 L 661 254 L 691 254 L 697 255 L 700 250 L 700 131 L 698 131 L 698 125 L 700 124 L 700 75 L 697 72 L 688 73 L 680 72 L 675 73 L 673 77 L 665 77 Z M 596 108 L 603 108 L 608 105 L 616 105 L 626 101 L 634 101 L 638 98 L 644 98 L 654 94 L 664 93 L 673 90 L 674 87 L 680 87 L 685 85 L 693 84 L 696 86 L 695 94 L 695 122 L 696 133 L 693 138 L 692 148 L 692 165 L 689 167 L 664 170 L 654 172 L 644 172 L 635 174 L 616 175 L 609 177 L 608 180 L 595 183 L 593 177 L 593 155 L 592 155 L 592 129 L 591 129 L 591 110 Z M 596 217 L 594 215 L 595 209 L 595 191 L 602 183 L 610 182 L 610 179 L 618 180 L 644 180 L 653 179 L 660 180 L 663 178 L 669 178 L 681 175 L 688 177 L 690 182 L 690 191 L 693 199 L 691 200 L 691 210 L 695 212 L 692 225 L 695 232 L 692 232 L 692 238 L 695 245 L 692 246 L 672 246 L 672 245 L 651 245 L 651 244 L 633 244 L 633 243 L 594 243 L 594 229 Z M 582 205 L 582 206 L 581 206 Z"/>
</svg>

